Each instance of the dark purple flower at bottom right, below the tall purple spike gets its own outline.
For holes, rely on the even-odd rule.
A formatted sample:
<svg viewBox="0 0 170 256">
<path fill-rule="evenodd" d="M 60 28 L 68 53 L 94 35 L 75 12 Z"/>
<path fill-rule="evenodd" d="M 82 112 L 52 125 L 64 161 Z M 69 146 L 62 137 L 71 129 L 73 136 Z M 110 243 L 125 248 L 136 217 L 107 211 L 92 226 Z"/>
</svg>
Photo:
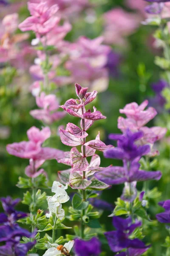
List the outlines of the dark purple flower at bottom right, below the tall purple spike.
<svg viewBox="0 0 170 256">
<path fill-rule="evenodd" d="M 141 226 L 141 222 L 136 221 L 135 223 L 132 223 L 132 219 L 130 217 L 126 219 L 113 217 L 113 226 L 116 228 L 116 231 L 109 231 L 105 233 L 109 247 L 113 252 L 119 252 L 125 248 L 128 248 L 128 250 L 142 249 L 144 251 L 149 248 L 149 246 L 146 246 L 139 239 L 129 239 L 129 236 L 133 231 L 137 227 Z M 126 254 L 124 253 L 122 255 Z M 132 255 L 133 254 L 130 254 L 130 256 Z"/>
</svg>

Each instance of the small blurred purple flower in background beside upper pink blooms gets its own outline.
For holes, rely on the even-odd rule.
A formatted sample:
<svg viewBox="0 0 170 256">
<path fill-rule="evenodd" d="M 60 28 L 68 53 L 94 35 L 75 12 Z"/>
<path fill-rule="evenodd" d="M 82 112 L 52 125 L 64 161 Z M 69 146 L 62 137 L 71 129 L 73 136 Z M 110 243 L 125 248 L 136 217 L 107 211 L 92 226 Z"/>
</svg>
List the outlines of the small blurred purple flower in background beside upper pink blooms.
<svg viewBox="0 0 170 256">
<path fill-rule="evenodd" d="M 117 77 L 119 75 L 119 64 L 121 56 L 117 52 L 109 52 L 105 67 L 108 69 L 110 76 Z"/>
</svg>

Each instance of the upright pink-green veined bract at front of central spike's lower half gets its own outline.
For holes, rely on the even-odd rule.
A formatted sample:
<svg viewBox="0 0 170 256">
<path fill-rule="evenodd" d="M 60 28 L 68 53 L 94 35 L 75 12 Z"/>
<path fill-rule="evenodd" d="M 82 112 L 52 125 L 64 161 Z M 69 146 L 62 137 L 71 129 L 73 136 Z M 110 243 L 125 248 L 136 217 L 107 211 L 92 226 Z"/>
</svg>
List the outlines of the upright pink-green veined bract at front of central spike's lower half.
<svg viewBox="0 0 170 256">
<path fill-rule="evenodd" d="M 77 148 L 71 148 L 71 160 L 72 160 L 72 169 L 74 172 L 85 171 L 88 167 L 88 161 L 85 157 L 79 153 Z"/>
</svg>

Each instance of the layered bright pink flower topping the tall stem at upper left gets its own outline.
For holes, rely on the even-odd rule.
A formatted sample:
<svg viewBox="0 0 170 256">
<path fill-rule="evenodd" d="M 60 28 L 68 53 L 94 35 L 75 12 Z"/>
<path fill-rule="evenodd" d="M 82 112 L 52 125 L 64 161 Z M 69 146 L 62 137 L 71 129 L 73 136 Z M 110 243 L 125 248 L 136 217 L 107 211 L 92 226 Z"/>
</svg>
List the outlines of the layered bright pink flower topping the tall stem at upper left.
<svg viewBox="0 0 170 256">
<path fill-rule="evenodd" d="M 33 30 L 37 35 L 45 35 L 59 23 L 59 17 L 55 16 L 59 9 L 56 4 L 49 7 L 47 2 L 28 2 L 28 9 L 32 16 L 20 23 L 21 31 Z"/>
</svg>

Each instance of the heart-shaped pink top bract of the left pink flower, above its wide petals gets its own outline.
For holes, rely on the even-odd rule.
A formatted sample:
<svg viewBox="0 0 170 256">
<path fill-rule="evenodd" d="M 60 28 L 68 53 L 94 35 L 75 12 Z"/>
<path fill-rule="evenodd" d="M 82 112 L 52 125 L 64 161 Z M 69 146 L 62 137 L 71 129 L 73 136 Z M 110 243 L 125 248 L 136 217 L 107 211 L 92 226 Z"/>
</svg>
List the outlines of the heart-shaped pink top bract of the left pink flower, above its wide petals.
<svg viewBox="0 0 170 256">
<path fill-rule="evenodd" d="M 36 128 L 35 126 L 32 126 L 27 131 L 28 139 L 33 141 L 34 143 L 40 143 L 42 144 L 45 140 L 47 140 L 51 136 L 51 131 L 49 127 L 40 129 Z"/>
</svg>

